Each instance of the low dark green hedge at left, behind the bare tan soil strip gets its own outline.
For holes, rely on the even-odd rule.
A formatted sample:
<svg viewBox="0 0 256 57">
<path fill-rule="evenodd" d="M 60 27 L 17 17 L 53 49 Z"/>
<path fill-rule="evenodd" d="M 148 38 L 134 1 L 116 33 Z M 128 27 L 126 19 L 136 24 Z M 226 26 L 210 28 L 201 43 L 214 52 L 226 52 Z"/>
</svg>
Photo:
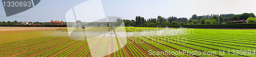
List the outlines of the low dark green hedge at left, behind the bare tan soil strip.
<svg viewBox="0 0 256 57">
<path fill-rule="evenodd" d="M 1 27 L 67 27 L 67 25 L 0 25 Z"/>
</svg>

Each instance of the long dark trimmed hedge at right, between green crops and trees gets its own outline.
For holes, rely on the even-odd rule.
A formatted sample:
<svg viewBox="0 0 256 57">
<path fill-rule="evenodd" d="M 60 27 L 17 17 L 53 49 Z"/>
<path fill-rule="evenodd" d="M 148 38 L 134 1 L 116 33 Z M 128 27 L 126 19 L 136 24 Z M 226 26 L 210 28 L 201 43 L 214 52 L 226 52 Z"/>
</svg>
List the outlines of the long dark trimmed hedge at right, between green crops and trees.
<svg viewBox="0 0 256 57">
<path fill-rule="evenodd" d="M 242 24 L 197 24 L 197 25 L 161 25 L 161 27 L 184 27 L 184 28 L 233 28 L 233 29 L 256 29 L 256 23 Z M 136 27 L 160 27 L 159 25 L 139 25 Z"/>
</svg>

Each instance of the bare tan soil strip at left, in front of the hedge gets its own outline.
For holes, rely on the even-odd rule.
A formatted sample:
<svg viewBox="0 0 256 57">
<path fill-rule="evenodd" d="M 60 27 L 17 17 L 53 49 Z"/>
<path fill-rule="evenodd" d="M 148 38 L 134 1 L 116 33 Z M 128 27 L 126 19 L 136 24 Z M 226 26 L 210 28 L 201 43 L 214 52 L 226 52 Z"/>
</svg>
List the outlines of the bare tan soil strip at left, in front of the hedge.
<svg viewBox="0 0 256 57">
<path fill-rule="evenodd" d="M 45 31 L 65 28 L 67 27 L 0 27 L 0 32 Z"/>
</svg>

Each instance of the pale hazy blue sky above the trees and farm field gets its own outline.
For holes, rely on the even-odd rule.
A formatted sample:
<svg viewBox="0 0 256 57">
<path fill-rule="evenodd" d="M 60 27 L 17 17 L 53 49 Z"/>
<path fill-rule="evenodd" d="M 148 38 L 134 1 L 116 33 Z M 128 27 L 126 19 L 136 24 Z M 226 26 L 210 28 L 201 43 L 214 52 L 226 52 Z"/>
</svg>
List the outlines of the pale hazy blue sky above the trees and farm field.
<svg viewBox="0 0 256 57">
<path fill-rule="evenodd" d="M 88 0 L 41 0 L 35 7 L 6 17 L 0 7 L 0 21 L 66 21 L 66 13 L 76 5 Z M 145 19 L 157 16 L 190 18 L 197 14 L 242 14 L 256 13 L 255 0 L 101 0 L 105 16 L 134 20 L 136 16 Z M 2 3 L 0 3 L 3 5 Z"/>
</svg>

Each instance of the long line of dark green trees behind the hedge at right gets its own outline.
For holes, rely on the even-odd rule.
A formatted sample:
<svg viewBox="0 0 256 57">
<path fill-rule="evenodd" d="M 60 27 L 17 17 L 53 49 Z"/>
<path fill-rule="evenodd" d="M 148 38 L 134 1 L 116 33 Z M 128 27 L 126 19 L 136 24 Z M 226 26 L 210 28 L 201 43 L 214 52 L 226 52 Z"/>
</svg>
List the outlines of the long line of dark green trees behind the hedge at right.
<svg viewBox="0 0 256 57">
<path fill-rule="evenodd" d="M 211 14 L 197 16 L 193 15 L 191 18 L 177 18 L 177 17 L 161 17 L 145 19 L 141 16 L 136 16 L 135 20 L 123 20 L 125 26 L 136 25 L 192 25 L 192 24 L 222 24 L 232 21 L 247 20 L 248 18 L 255 18 L 253 13 L 235 14 Z"/>
</svg>

